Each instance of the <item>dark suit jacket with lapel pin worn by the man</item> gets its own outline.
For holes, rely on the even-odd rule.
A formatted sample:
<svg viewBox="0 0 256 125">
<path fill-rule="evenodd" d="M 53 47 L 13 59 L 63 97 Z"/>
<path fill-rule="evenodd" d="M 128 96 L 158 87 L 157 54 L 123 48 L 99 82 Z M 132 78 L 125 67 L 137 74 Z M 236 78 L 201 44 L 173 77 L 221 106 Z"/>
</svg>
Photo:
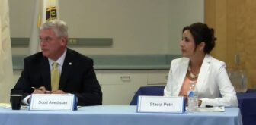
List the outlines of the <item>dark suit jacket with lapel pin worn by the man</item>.
<svg viewBox="0 0 256 125">
<path fill-rule="evenodd" d="M 11 89 L 11 94 L 22 94 L 25 98 L 34 91 L 31 87 L 40 86 L 51 90 L 50 65 L 42 52 L 24 58 L 24 70 L 14 89 Z M 62 66 L 59 89 L 75 94 L 78 105 L 101 105 L 102 103 L 101 86 L 96 78 L 92 59 L 69 48 Z"/>
</svg>

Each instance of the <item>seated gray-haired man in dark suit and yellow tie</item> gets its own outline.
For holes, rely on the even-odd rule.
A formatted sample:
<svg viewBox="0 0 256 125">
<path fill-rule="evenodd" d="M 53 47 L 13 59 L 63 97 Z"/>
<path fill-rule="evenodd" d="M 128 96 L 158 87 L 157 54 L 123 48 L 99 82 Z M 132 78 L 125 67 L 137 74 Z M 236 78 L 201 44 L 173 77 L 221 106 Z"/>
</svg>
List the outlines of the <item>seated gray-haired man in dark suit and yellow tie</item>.
<svg viewBox="0 0 256 125">
<path fill-rule="evenodd" d="M 42 52 L 24 58 L 24 70 L 14 89 L 11 89 L 11 94 L 23 95 L 24 105 L 29 103 L 32 93 L 72 93 L 76 95 L 78 105 L 101 105 L 101 86 L 94 72 L 93 61 L 66 48 L 67 30 L 62 20 L 52 20 L 40 27 Z M 59 75 L 56 89 L 51 80 L 53 62 L 56 62 Z"/>
</svg>

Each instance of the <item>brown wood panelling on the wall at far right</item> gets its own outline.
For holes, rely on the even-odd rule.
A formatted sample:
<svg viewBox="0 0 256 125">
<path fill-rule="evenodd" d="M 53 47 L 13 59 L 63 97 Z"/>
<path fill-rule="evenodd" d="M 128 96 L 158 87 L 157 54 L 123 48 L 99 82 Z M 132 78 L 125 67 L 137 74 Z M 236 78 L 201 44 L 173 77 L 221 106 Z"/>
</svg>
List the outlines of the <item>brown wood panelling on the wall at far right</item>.
<svg viewBox="0 0 256 125">
<path fill-rule="evenodd" d="M 216 47 L 211 54 L 230 68 L 245 71 L 248 89 L 256 89 L 256 1 L 205 0 L 205 23 L 216 33 Z M 235 64 L 239 54 L 241 63 Z"/>
</svg>

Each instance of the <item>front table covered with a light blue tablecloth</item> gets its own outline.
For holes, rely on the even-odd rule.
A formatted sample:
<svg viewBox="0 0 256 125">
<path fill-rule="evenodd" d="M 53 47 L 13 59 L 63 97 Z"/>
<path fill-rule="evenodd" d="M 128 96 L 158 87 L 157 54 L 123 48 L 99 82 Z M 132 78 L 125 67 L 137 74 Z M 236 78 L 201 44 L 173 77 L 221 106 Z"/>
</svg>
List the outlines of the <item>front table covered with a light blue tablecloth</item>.
<svg viewBox="0 0 256 125">
<path fill-rule="evenodd" d="M 1 125 L 242 125 L 239 108 L 225 112 L 196 112 L 183 114 L 137 113 L 136 106 L 100 105 L 78 108 L 78 111 L 13 111 L 0 108 Z"/>
</svg>

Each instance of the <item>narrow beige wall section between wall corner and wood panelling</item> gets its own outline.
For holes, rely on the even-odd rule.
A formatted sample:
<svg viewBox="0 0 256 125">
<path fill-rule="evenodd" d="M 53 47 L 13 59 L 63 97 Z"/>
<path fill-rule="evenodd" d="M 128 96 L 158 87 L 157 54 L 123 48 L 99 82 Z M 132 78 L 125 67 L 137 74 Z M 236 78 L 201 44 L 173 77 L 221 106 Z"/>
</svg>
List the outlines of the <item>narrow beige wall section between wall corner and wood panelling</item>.
<svg viewBox="0 0 256 125">
<path fill-rule="evenodd" d="M 204 0 L 170 0 L 168 8 L 168 44 L 165 52 L 181 54 L 182 29 L 195 22 L 204 22 Z"/>
</svg>

